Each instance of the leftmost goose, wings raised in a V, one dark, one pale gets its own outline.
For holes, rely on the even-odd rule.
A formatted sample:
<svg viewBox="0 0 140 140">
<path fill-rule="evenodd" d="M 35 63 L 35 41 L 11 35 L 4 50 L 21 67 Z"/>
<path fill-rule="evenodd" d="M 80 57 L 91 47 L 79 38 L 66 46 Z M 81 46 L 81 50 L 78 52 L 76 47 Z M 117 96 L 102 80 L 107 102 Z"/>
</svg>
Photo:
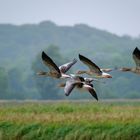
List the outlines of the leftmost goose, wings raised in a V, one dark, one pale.
<svg viewBox="0 0 140 140">
<path fill-rule="evenodd" d="M 63 64 L 61 66 L 57 66 L 54 61 L 43 51 L 42 52 L 42 60 L 43 63 L 48 66 L 49 72 L 40 71 L 37 74 L 43 76 L 50 76 L 53 78 L 70 78 L 69 75 L 65 74 L 76 62 L 76 59 L 73 61 Z"/>
</svg>

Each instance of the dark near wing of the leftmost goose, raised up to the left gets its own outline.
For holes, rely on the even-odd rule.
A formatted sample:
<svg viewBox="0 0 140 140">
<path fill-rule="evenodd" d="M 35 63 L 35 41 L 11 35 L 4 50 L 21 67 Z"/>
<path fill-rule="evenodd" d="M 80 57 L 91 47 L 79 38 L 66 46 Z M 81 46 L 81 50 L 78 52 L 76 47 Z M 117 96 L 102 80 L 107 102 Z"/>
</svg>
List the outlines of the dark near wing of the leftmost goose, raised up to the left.
<svg viewBox="0 0 140 140">
<path fill-rule="evenodd" d="M 55 71 L 60 74 L 60 70 L 57 65 L 53 62 L 53 60 L 43 51 L 42 52 L 42 60 L 46 66 L 50 69 L 50 71 Z"/>
</svg>

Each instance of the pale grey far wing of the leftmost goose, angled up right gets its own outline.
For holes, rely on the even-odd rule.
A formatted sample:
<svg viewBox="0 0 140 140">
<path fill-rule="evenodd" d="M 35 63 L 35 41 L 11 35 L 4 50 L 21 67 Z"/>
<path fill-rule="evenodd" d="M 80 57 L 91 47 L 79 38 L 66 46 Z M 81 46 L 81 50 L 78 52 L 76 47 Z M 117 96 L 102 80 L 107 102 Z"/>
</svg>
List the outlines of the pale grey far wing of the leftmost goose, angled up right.
<svg viewBox="0 0 140 140">
<path fill-rule="evenodd" d="M 73 59 L 73 61 L 71 61 L 71 62 L 69 62 L 69 63 L 66 63 L 66 64 L 64 64 L 64 65 L 61 65 L 61 66 L 59 67 L 59 69 L 60 69 L 60 71 L 61 71 L 62 73 L 66 73 L 76 62 L 77 62 L 77 60 L 76 60 L 76 59 Z"/>
</svg>

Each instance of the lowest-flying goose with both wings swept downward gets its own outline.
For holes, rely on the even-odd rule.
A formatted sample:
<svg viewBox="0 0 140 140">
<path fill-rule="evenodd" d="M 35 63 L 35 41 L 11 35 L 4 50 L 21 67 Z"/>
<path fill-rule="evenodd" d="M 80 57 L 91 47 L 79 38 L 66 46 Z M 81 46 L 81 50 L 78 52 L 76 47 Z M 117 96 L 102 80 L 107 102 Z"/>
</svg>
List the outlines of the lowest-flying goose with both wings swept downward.
<svg viewBox="0 0 140 140">
<path fill-rule="evenodd" d="M 76 87 L 77 89 L 88 91 L 98 101 L 96 91 L 93 88 L 93 84 L 91 84 L 92 81 L 93 79 L 90 78 L 71 76 L 71 78 L 69 78 L 66 83 L 61 83 L 59 86 L 64 87 L 66 96 L 69 96 L 72 90 Z"/>
</svg>

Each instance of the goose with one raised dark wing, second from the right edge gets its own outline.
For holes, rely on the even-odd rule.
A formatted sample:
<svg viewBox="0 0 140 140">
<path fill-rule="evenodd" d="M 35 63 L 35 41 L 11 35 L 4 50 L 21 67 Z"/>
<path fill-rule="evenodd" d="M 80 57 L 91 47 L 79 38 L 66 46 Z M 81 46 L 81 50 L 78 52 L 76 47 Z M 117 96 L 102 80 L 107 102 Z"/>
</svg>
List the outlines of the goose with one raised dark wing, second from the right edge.
<svg viewBox="0 0 140 140">
<path fill-rule="evenodd" d="M 85 65 L 88 66 L 89 70 L 87 71 L 77 71 L 76 74 L 88 74 L 92 76 L 96 76 L 99 78 L 112 78 L 112 76 L 106 72 L 112 71 L 112 69 L 100 69 L 95 63 L 93 63 L 90 59 L 86 58 L 85 56 L 79 54 L 79 59 L 82 61 Z"/>
</svg>

